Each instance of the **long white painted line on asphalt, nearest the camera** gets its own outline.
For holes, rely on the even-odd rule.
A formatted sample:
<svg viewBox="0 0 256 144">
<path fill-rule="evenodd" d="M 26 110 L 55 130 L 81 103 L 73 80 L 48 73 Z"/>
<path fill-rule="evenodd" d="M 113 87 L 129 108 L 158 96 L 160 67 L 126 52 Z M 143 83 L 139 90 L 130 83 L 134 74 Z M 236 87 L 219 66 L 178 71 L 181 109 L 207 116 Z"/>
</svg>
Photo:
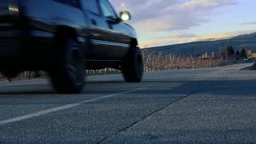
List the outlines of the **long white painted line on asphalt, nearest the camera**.
<svg viewBox="0 0 256 144">
<path fill-rule="evenodd" d="M 121 93 L 110 94 L 110 95 L 102 96 L 102 97 L 99 97 L 99 98 L 93 98 L 93 99 L 85 100 L 85 101 L 82 101 L 82 102 L 71 103 L 71 104 L 65 105 L 65 106 L 58 106 L 58 107 L 55 107 L 55 108 L 52 108 L 52 109 L 38 111 L 38 112 L 32 113 L 32 114 L 26 114 L 26 115 L 16 117 L 16 118 L 6 119 L 6 120 L 3 120 L 3 121 L 0 121 L 0 126 L 6 125 L 6 124 L 9 124 L 9 123 L 13 123 L 13 122 L 20 122 L 20 121 L 30 119 L 30 118 L 39 117 L 39 116 L 54 113 L 54 112 L 57 112 L 57 111 L 60 111 L 60 110 L 70 109 L 70 108 L 80 106 L 80 105 L 85 104 L 85 103 L 96 102 L 98 100 L 102 100 L 102 99 L 105 99 L 105 98 L 111 98 L 111 97 L 117 96 L 119 94 L 128 94 L 128 93 L 138 91 L 138 90 L 142 90 L 142 89 L 143 88 L 141 87 L 141 88 L 134 89 L 134 90 L 127 90 L 127 91 L 123 91 Z"/>
</svg>

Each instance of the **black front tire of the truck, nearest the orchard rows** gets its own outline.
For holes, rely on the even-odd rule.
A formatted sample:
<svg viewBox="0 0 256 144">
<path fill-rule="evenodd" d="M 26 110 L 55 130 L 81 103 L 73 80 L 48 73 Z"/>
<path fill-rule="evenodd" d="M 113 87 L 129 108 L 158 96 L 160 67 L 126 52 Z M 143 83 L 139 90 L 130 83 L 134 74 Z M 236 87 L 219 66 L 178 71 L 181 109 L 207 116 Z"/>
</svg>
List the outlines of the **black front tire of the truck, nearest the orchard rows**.
<svg viewBox="0 0 256 144">
<path fill-rule="evenodd" d="M 139 48 L 130 50 L 130 53 L 122 62 L 122 75 L 126 82 L 142 82 L 143 59 Z"/>
</svg>

